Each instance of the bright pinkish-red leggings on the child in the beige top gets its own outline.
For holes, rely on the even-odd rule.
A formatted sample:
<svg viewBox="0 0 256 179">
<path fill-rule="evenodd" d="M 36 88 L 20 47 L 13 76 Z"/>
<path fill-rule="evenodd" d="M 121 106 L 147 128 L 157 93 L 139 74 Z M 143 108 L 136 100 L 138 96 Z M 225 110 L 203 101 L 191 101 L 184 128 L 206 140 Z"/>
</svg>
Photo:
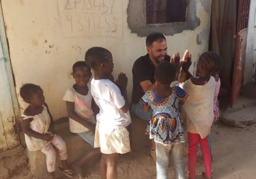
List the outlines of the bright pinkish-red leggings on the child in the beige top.
<svg viewBox="0 0 256 179">
<path fill-rule="evenodd" d="M 198 142 L 204 157 L 205 176 L 211 178 L 211 151 L 207 135 L 201 138 L 199 134 L 188 132 L 188 174 L 189 179 L 196 177 L 196 154 Z"/>
</svg>

